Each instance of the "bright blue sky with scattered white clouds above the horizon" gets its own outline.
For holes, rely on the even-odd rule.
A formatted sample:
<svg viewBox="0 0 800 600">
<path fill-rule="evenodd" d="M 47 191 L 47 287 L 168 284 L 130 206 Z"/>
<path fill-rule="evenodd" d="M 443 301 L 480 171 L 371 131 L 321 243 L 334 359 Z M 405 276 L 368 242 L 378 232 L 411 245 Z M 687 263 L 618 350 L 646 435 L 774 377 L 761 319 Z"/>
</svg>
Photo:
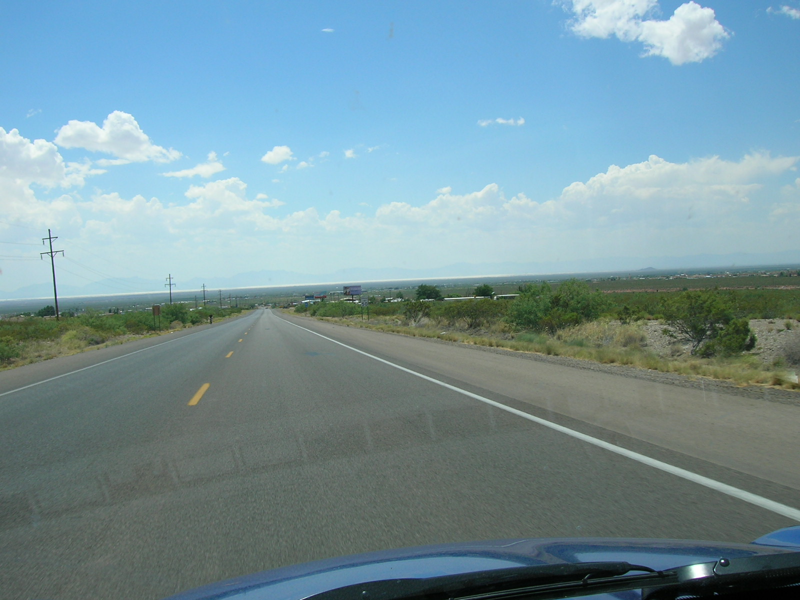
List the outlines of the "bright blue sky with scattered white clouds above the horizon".
<svg viewBox="0 0 800 600">
<path fill-rule="evenodd" d="M 6 0 L 0 20 L 0 297 L 50 282 L 48 229 L 59 282 L 178 289 L 800 256 L 798 0 Z"/>
</svg>

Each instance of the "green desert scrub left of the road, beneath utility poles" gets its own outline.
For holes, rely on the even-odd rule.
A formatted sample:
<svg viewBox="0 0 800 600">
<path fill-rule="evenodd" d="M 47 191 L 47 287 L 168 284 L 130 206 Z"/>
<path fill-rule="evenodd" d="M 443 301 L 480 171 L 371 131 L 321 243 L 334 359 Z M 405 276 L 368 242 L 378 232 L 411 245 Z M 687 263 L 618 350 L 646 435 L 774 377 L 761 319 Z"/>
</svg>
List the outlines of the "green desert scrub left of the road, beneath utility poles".
<svg viewBox="0 0 800 600">
<path fill-rule="evenodd" d="M 54 315 L 49 306 L 38 314 Z M 185 304 L 162 306 L 161 330 L 174 330 L 198 323 L 207 323 L 209 315 L 224 318 L 242 312 L 241 308 L 189 310 Z M 87 348 L 100 347 L 158 331 L 150 310 L 126 313 L 103 313 L 86 310 L 77 316 L 27 315 L 0 320 L 0 368 L 24 365 L 48 358 L 75 354 Z"/>
</svg>

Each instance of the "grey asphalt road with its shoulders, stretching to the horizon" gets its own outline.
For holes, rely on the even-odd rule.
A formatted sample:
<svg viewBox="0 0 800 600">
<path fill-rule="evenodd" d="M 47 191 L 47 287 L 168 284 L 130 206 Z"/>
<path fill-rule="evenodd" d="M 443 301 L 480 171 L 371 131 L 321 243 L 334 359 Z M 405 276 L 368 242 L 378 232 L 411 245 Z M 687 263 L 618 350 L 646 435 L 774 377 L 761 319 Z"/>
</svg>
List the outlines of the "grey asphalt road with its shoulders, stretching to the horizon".
<svg viewBox="0 0 800 600">
<path fill-rule="evenodd" d="M 254 310 L 0 374 L 0 596 L 437 542 L 749 542 L 800 521 L 798 410 Z"/>
</svg>

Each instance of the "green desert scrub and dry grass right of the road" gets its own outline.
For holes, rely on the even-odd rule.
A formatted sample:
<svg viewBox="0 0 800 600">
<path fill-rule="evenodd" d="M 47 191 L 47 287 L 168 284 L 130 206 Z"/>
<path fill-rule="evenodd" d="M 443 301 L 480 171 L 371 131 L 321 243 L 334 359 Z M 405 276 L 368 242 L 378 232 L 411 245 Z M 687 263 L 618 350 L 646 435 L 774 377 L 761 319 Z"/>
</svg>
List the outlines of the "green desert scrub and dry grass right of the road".
<svg viewBox="0 0 800 600">
<path fill-rule="evenodd" d="M 436 297 L 426 286 L 419 296 Z M 749 318 L 790 314 L 784 302 L 770 308 L 759 298 L 783 290 L 700 290 L 666 294 L 602 294 L 586 282 L 558 287 L 546 282 L 522 286 L 514 300 L 434 301 L 429 298 L 370 305 L 370 321 L 351 302 L 322 302 L 295 311 L 348 326 L 439 338 L 509 350 L 535 352 L 682 374 L 723 379 L 738 385 L 800 389 L 787 368 L 800 366 L 800 342 L 783 349 L 784 360 L 765 364 L 749 354 L 756 343 Z M 784 298 L 785 299 L 785 298 Z M 633 300 L 633 302 L 629 302 Z M 644 323 L 658 320 L 674 340 L 657 352 Z M 790 329 L 791 326 L 785 326 Z M 688 345 L 688 354 L 682 345 Z"/>
</svg>

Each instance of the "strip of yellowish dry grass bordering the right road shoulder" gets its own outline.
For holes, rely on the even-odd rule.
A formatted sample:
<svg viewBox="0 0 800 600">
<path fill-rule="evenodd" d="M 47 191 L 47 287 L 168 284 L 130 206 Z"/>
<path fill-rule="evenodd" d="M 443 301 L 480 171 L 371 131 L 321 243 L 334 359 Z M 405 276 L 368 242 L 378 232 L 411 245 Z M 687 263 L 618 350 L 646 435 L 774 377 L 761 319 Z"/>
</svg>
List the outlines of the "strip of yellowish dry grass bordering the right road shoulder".
<svg viewBox="0 0 800 600">
<path fill-rule="evenodd" d="M 754 356 L 660 357 L 647 350 L 646 335 L 642 328 L 635 324 L 622 325 L 613 321 L 596 321 L 559 331 L 554 337 L 545 334 L 517 334 L 509 338 L 502 327 L 498 327 L 496 333 L 492 331 L 484 335 L 470 335 L 463 331 L 446 330 L 442 326 L 437 326 L 435 322 L 424 320 L 418 326 L 405 325 L 396 317 L 374 318 L 369 322 L 362 321 L 358 317 L 325 317 L 322 320 L 418 338 L 438 338 L 448 342 L 505 348 L 518 352 L 566 356 L 603 364 L 681 374 L 689 378 L 718 379 L 734 382 L 738 386 L 775 386 L 786 390 L 800 390 L 800 384 L 790 381 L 786 370 L 765 366 Z"/>
</svg>

